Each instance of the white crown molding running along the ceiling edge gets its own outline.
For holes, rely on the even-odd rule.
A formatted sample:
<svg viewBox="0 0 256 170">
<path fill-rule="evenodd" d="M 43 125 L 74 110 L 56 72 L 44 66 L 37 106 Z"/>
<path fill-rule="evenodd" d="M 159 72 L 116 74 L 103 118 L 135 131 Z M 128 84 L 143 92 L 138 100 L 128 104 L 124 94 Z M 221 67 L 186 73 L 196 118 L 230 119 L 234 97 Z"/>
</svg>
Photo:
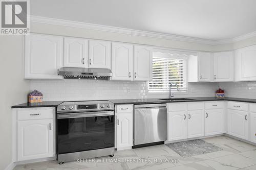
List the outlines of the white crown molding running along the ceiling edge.
<svg viewBox="0 0 256 170">
<path fill-rule="evenodd" d="M 71 21 L 71 20 L 57 19 L 57 18 L 49 18 L 49 17 L 42 17 L 42 16 L 35 16 L 35 15 L 30 15 L 30 22 L 46 23 L 46 24 L 51 24 L 51 25 L 59 25 L 59 26 L 67 26 L 67 27 L 74 27 L 74 28 L 99 30 L 99 31 L 108 31 L 108 32 L 114 32 L 114 33 L 161 38 L 161 39 L 168 39 L 168 40 L 201 43 L 201 44 L 208 44 L 208 45 L 233 43 L 233 42 L 241 41 L 241 40 L 256 36 L 256 31 L 255 31 L 255 32 L 252 32 L 252 33 L 249 33 L 246 35 L 242 35 L 242 36 L 239 36 L 236 38 L 231 38 L 231 39 L 208 40 L 208 39 L 202 39 L 202 38 L 179 36 L 179 35 L 174 35 L 174 34 L 163 34 L 163 33 L 157 33 L 157 32 L 140 31 L 140 30 L 120 28 L 120 27 L 103 26 L 103 25 L 97 25 L 97 24 L 93 24 L 93 23 Z"/>
</svg>

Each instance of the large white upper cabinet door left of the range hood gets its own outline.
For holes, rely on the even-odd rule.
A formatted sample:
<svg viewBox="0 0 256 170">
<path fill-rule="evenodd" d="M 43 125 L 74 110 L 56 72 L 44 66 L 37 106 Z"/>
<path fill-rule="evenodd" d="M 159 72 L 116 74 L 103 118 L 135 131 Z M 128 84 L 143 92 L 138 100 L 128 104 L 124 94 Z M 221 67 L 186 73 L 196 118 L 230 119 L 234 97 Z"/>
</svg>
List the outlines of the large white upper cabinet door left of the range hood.
<svg viewBox="0 0 256 170">
<path fill-rule="evenodd" d="M 63 38 L 31 34 L 25 36 L 25 79 L 62 79 Z"/>
</svg>

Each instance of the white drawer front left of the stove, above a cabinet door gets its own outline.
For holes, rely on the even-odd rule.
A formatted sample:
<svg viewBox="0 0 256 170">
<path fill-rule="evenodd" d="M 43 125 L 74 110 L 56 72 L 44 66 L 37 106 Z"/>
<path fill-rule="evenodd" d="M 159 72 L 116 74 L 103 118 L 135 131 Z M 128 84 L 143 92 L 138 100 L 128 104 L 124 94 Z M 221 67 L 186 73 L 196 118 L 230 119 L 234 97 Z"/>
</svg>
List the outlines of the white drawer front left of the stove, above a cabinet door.
<svg viewBox="0 0 256 170">
<path fill-rule="evenodd" d="M 55 108 L 29 108 L 17 110 L 18 120 L 52 119 Z"/>
</svg>

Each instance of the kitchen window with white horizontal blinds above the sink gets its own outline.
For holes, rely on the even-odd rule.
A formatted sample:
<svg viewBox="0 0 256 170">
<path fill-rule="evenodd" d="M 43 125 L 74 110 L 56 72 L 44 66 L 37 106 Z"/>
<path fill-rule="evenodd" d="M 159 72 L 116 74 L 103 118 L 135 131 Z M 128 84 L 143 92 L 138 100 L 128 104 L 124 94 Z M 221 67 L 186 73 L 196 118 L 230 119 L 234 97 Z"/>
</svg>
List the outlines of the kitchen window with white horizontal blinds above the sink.
<svg viewBox="0 0 256 170">
<path fill-rule="evenodd" d="M 182 53 L 153 53 L 153 80 L 148 83 L 148 92 L 169 92 L 171 83 L 178 85 L 179 92 L 186 92 L 187 59 Z M 178 92 L 175 85 L 171 89 Z"/>
</svg>

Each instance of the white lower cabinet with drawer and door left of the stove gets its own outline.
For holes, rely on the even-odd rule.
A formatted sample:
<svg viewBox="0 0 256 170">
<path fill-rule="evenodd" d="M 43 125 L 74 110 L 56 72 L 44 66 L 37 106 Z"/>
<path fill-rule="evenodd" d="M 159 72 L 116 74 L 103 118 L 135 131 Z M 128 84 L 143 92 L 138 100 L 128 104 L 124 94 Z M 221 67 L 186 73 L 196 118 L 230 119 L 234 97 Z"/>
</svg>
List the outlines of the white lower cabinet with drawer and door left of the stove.
<svg viewBox="0 0 256 170">
<path fill-rule="evenodd" d="M 13 161 L 55 157 L 55 108 L 13 109 Z"/>
</svg>

